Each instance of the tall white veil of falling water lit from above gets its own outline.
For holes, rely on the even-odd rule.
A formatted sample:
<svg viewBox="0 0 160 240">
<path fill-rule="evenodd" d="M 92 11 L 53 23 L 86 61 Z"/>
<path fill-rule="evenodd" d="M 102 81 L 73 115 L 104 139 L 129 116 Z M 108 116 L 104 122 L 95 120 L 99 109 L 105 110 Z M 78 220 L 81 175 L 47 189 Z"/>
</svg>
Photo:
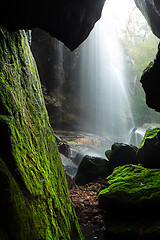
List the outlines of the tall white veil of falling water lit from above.
<svg viewBox="0 0 160 240">
<path fill-rule="evenodd" d="M 111 8 L 112 1 L 107 1 L 101 20 L 81 47 L 81 126 L 127 142 L 134 124 L 125 61 Z"/>
</svg>

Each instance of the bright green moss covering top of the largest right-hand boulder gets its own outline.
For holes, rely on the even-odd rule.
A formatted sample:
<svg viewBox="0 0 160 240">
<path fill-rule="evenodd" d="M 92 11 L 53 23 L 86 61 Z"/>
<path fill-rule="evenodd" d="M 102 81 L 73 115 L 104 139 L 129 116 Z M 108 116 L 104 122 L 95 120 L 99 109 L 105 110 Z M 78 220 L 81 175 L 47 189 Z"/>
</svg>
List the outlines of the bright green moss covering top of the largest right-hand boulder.
<svg viewBox="0 0 160 240">
<path fill-rule="evenodd" d="M 110 186 L 99 193 L 107 198 L 120 199 L 123 203 L 160 201 L 160 170 L 146 169 L 138 165 L 117 167 L 107 178 Z"/>
</svg>

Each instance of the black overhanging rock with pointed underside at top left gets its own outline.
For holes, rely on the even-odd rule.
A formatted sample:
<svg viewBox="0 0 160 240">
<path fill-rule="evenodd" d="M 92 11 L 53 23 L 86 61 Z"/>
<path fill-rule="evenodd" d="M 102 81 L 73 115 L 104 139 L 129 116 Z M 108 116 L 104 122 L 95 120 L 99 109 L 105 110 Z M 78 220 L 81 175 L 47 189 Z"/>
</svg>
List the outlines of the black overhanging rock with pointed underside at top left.
<svg viewBox="0 0 160 240">
<path fill-rule="evenodd" d="M 39 27 L 70 49 L 83 42 L 101 17 L 105 0 L 3 1 L 0 25 L 9 30 Z"/>
</svg>

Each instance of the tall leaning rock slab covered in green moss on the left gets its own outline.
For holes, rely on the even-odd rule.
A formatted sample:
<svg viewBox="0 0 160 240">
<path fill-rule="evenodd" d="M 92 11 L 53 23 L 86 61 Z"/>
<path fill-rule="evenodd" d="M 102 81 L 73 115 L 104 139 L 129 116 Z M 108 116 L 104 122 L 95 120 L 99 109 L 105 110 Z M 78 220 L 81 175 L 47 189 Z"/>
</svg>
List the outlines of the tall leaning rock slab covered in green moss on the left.
<svg viewBox="0 0 160 240">
<path fill-rule="evenodd" d="M 0 29 L 0 239 L 83 239 L 25 31 Z"/>
</svg>

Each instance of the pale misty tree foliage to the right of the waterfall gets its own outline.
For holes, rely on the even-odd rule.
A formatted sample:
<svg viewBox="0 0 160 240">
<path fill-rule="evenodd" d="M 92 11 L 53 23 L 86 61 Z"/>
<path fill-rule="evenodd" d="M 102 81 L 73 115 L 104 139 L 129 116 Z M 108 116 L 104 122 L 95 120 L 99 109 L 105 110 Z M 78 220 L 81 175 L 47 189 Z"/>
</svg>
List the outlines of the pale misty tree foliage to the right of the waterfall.
<svg viewBox="0 0 160 240">
<path fill-rule="evenodd" d="M 130 80 L 130 102 L 136 125 L 145 122 L 160 122 L 160 114 L 146 105 L 145 93 L 140 84 L 143 70 L 154 60 L 159 39 L 151 32 L 138 9 L 130 9 L 122 44 L 127 55 Z"/>
</svg>

